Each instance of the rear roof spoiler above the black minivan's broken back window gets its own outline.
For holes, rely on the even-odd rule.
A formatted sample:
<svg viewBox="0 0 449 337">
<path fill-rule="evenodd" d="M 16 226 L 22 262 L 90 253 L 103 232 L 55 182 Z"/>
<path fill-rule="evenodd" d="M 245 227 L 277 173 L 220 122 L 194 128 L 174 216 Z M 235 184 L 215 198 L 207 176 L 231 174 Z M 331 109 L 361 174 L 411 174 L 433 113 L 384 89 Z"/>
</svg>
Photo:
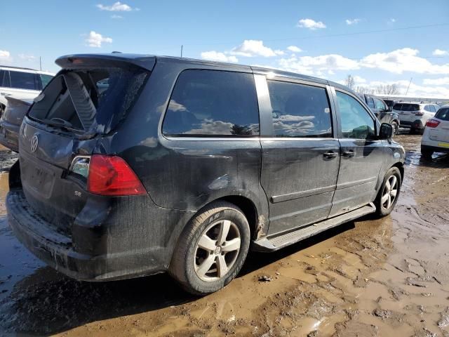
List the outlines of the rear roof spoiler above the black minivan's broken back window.
<svg viewBox="0 0 449 337">
<path fill-rule="evenodd" d="M 126 67 L 126 65 L 136 65 L 150 72 L 156 64 L 156 56 L 139 54 L 74 54 L 57 58 L 55 63 L 62 68 L 83 68 L 83 67 Z"/>
</svg>

